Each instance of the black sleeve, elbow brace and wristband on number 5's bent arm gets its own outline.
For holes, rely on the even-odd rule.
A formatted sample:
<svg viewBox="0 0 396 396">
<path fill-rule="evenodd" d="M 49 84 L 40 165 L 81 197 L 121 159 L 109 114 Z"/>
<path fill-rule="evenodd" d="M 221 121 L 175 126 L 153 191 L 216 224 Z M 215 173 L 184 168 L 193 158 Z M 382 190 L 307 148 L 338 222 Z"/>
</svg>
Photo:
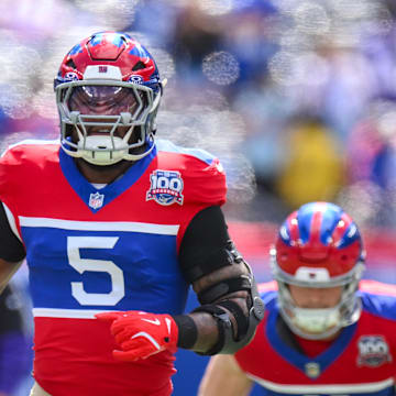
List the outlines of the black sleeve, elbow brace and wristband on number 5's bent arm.
<svg viewBox="0 0 396 396">
<path fill-rule="evenodd" d="M 263 319 L 264 304 L 252 270 L 228 234 L 220 207 L 206 208 L 194 217 L 180 244 L 179 263 L 187 282 L 197 286 L 195 282 L 202 278 L 199 287 L 195 287 L 201 306 L 193 312 L 209 314 L 218 324 L 216 344 L 198 353 L 234 353 L 246 345 Z M 224 267 L 230 271 L 222 272 L 220 277 L 210 276 Z M 186 315 L 174 319 L 179 328 L 178 346 L 194 348 L 198 337 L 194 320 Z"/>
</svg>

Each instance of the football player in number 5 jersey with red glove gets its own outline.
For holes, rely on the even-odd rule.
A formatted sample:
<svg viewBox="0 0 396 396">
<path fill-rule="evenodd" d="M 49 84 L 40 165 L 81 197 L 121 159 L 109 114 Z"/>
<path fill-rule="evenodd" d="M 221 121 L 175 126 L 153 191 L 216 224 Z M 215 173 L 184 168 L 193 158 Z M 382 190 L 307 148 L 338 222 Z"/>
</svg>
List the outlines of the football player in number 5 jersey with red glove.
<svg viewBox="0 0 396 396">
<path fill-rule="evenodd" d="M 221 164 L 154 139 L 163 89 L 143 45 L 96 33 L 55 78 L 61 140 L 0 161 L 0 285 L 26 257 L 34 396 L 169 395 L 177 346 L 233 353 L 263 316 Z"/>
</svg>

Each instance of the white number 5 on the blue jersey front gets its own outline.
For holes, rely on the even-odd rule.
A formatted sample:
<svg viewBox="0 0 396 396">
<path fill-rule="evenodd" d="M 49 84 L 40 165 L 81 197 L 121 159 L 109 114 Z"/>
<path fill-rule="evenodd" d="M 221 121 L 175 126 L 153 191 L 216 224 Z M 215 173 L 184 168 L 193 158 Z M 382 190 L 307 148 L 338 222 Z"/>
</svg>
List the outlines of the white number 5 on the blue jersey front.
<svg viewBox="0 0 396 396">
<path fill-rule="evenodd" d="M 111 277 L 110 293 L 87 293 L 82 282 L 72 282 L 72 295 L 80 305 L 113 306 L 125 295 L 124 277 L 121 268 L 106 260 L 80 257 L 80 249 L 113 249 L 118 237 L 67 237 L 69 264 L 80 274 L 86 271 L 105 272 Z"/>
</svg>

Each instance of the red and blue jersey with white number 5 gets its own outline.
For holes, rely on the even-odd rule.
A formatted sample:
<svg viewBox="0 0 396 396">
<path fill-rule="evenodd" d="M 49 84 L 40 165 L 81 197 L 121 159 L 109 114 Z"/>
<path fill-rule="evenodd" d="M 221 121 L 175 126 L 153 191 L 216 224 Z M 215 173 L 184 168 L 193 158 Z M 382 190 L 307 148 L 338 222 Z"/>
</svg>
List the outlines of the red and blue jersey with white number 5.
<svg viewBox="0 0 396 396">
<path fill-rule="evenodd" d="M 158 141 L 98 189 L 59 144 L 36 143 L 22 142 L 0 161 L 0 200 L 30 268 L 35 380 L 55 396 L 169 395 L 173 355 L 114 361 L 109 323 L 94 315 L 184 311 L 178 248 L 197 212 L 224 202 L 219 162 Z"/>
</svg>

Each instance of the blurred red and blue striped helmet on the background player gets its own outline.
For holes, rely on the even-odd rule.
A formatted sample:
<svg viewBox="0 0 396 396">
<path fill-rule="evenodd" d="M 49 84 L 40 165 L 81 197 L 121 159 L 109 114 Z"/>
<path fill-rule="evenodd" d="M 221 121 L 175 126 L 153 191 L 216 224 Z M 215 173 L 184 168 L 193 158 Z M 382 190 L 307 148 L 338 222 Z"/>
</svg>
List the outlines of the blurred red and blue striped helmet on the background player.
<svg viewBox="0 0 396 396">
<path fill-rule="evenodd" d="M 341 208 L 311 202 L 289 215 L 271 250 L 272 271 L 279 286 L 280 314 L 290 329 L 308 339 L 323 339 L 355 322 L 361 312 L 356 296 L 364 270 L 364 251 L 356 224 Z M 300 308 L 288 285 L 342 286 L 332 308 Z"/>
</svg>

